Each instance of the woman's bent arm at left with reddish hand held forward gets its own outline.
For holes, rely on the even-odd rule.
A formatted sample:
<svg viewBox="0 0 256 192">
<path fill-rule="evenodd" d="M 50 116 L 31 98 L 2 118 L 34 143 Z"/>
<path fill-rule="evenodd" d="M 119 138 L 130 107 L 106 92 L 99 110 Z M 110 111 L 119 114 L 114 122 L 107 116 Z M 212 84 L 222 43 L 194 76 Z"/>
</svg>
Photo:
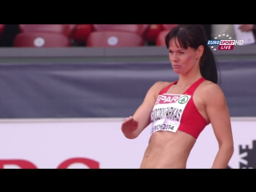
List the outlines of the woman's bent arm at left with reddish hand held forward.
<svg viewBox="0 0 256 192">
<path fill-rule="evenodd" d="M 154 83 L 146 93 L 142 105 L 138 107 L 133 116 L 126 118 L 122 123 L 122 133 L 126 138 L 137 138 L 142 130 L 149 126 L 151 110 L 154 107 L 159 87 L 162 87 L 162 82 Z"/>
</svg>

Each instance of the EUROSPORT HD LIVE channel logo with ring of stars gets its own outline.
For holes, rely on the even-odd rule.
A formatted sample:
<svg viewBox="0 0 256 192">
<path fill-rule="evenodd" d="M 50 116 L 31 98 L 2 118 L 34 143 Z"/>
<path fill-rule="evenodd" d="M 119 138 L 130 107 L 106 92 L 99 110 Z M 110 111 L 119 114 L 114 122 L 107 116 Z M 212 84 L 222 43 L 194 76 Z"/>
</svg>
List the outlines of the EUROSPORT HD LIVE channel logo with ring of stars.
<svg viewBox="0 0 256 192">
<path fill-rule="evenodd" d="M 214 50 L 233 50 L 234 46 L 242 46 L 243 40 L 233 40 L 228 34 L 219 34 L 214 40 L 208 40 L 207 45 Z"/>
</svg>

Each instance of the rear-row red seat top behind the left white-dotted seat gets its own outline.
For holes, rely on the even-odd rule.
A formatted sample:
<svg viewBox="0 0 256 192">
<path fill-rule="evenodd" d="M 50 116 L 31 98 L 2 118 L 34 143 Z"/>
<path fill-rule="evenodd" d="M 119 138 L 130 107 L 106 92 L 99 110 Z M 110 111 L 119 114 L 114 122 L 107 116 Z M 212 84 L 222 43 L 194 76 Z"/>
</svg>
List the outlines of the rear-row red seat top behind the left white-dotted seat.
<svg viewBox="0 0 256 192">
<path fill-rule="evenodd" d="M 19 25 L 19 29 L 21 32 L 37 32 L 37 31 L 44 31 L 44 32 L 54 32 L 65 34 L 67 37 L 70 37 L 73 30 L 74 25 L 72 24 L 62 24 L 62 25 L 55 25 L 55 24 L 30 24 L 30 25 Z"/>
</svg>

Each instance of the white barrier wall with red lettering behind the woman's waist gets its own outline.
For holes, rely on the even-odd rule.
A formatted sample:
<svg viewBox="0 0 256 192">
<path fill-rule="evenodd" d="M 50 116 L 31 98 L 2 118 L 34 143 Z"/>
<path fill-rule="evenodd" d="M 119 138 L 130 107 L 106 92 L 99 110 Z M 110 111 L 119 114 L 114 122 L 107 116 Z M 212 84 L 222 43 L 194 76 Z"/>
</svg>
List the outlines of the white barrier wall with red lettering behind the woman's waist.
<svg viewBox="0 0 256 192">
<path fill-rule="evenodd" d="M 130 140 L 122 135 L 122 121 L 122 118 L 1 120 L 0 169 L 136 169 L 150 138 L 150 126 L 138 138 Z M 232 118 L 231 123 L 234 155 L 230 168 L 256 168 L 256 118 Z M 239 146 L 244 151 L 239 152 Z M 206 126 L 191 151 L 187 168 L 210 168 L 217 152 L 218 142 L 212 127 Z"/>
</svg>

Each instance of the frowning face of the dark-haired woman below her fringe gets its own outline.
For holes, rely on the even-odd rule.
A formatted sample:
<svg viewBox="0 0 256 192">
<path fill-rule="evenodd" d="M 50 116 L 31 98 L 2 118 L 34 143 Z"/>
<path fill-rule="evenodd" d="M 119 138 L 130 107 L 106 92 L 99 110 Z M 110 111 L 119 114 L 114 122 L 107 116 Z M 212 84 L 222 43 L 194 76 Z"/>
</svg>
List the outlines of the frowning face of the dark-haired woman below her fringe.
<svg viewBox="0 0 256 192">
<path fill-rule="evenodd" d="M 176 42 L 175 42 L 176 41 Z M 170 39 L 169 58 L 173 66 L 174 73 L 187 74 L 190 70 L 199 70 L 199 59 L 202 56 L 203 46 L 194 50 L 190 46 L 186 50 L 182 49 L 176 39 Z"/>
</svg>

